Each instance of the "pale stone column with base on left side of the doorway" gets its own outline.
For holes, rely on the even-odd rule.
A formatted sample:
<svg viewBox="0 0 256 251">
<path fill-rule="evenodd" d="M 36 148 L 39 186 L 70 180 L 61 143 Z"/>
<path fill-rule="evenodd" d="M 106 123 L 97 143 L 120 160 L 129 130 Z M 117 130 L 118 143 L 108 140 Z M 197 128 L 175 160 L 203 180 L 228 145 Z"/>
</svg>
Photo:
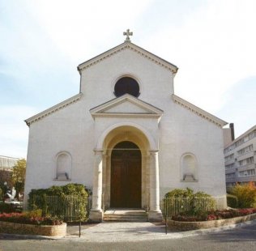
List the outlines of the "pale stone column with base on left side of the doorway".
<svg viewBox="0 0 256 251">
<path fill-rule="evenodd" d="M 103 211 L 101 208 L 102 200 L 102 150 L 95 150 L 93 188 L 92 188 L 92 209 L 90 219 L 96 222 L 103 220 Z"/>
</svg>

